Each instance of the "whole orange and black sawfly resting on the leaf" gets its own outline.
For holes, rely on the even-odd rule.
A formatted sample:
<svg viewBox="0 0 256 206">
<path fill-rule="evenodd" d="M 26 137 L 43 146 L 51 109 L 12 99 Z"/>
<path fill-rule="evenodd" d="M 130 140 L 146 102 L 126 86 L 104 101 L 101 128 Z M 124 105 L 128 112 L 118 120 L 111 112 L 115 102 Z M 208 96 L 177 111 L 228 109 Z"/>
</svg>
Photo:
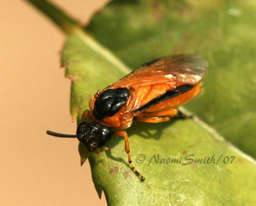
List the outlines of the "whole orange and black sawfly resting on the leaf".
<svg viewBox="0 0 256 206">
<path fill-rule="evenodd" d="M 207 63 L 199 55 L 173 55 L 145 63 L 129 75 L 109 85 L 90 99 L 89 108 L 82 115 L 76 135 L 59 137 L 78 138 L 89 152 L 98 153 L 111 136 L 124 136 L 125 151 L 132 170 L 145 180 L 130 155 L 129 138 L 124 129 L 133 119 L 158 123 L 169 121 L 179 113 L 177 107 L 194 98 L 201 89 Z M 86 116 L 90 121 L 85 121 Z M 119 129 L 111 131 L 111 128 Z"/>
</svg>

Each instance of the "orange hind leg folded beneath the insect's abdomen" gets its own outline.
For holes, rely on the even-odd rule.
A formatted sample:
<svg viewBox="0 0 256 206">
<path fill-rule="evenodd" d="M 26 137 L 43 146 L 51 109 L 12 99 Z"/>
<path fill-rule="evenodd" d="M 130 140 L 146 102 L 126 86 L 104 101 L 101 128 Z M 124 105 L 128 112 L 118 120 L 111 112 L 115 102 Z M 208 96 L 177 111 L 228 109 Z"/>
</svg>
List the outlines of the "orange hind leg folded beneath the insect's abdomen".
<svg viewBox="0 0 256 206">
<path fill-rule="evenodd" d="M 163 110 L 160 112 L 143 112 L 142 114 L 136 116 L 136 120 L 148 123 L 166 122 L 169 121 L 171 117 L 177 114 L 177 108 L 171 108 L 169 110 Z"/>
</svg>

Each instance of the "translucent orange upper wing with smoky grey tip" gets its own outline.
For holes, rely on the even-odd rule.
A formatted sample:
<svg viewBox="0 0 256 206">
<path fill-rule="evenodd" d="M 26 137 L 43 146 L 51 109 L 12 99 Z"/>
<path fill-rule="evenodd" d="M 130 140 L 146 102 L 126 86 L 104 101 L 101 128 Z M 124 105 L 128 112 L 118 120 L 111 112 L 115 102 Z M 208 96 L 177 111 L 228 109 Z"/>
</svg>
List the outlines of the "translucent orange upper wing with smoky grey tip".
<svg viewBox="0 0 256 206">
<path fill-rule="evenodd" d="M 206 72 L 207 62 L 200 55 L 173 55 L 145 63 L 109 87 L 135 87 L 166 82 L 173 84 L 173 87 L 196 85 L 204 79 Z"/>
</svg>

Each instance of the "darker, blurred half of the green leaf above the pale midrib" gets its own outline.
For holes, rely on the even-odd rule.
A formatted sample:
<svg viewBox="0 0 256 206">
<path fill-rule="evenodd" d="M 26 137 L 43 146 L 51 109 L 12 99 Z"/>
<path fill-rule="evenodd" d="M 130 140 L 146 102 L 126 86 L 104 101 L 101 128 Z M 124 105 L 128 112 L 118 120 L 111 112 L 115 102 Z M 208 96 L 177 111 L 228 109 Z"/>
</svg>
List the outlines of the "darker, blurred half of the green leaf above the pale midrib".
<svg viewBox="0 0 256 206">
<path fill-rule="evenodd" d="M 202 54 L 209 73 L 186 108 L 256 157 L 255 1 L 113 1 L 87 27 L 132 69 L 170 54 Z"/>
</svg>

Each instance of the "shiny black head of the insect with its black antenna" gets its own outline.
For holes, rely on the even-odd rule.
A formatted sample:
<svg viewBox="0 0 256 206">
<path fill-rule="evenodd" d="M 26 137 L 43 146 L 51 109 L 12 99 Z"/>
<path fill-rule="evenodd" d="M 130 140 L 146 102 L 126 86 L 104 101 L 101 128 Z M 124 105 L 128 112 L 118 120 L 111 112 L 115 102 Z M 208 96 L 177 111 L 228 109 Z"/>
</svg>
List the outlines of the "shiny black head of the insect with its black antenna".
<svg viewBox="0 0 256 206">
<path fill-rule="evenodd" d="M 58 137 L 77 138 L 83 143 L 88 152 L 94 152 L 102 148 L 110 140 L 112 132 L 108 127 L 96 122 L 81 122 L 77 126 L 76 135 L 64 135 L 52 131 L 47 131 L 47 134 Z"/>
</svg>

